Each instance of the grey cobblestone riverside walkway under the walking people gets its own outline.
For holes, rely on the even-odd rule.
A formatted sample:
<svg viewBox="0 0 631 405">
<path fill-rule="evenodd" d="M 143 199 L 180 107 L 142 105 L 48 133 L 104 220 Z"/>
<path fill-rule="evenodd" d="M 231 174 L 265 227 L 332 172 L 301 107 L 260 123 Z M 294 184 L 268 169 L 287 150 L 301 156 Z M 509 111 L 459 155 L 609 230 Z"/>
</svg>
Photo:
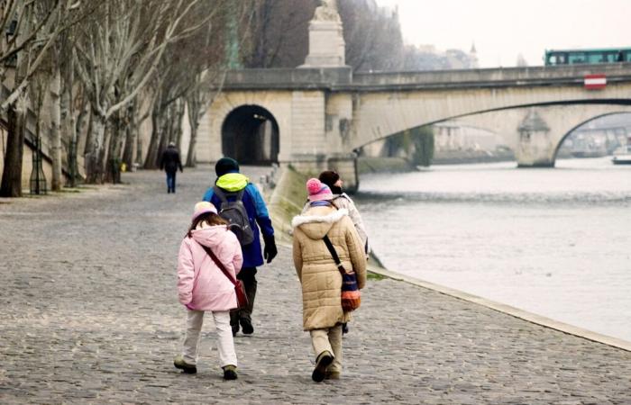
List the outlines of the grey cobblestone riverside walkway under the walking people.
<svg viewBox="0 0 631 405">
<path fill-rule="evenodd" d="M 176 257 L 214 177 L 0 201 L 0 403 L 631 403 L 631 353 L 389 279 L 363 292 L 343 379 L 313 383 L 288 247 L 259 271 L 239 380 L 222 379 L 208 319 L 198 374 L 179 374 Z"/>
</svg>

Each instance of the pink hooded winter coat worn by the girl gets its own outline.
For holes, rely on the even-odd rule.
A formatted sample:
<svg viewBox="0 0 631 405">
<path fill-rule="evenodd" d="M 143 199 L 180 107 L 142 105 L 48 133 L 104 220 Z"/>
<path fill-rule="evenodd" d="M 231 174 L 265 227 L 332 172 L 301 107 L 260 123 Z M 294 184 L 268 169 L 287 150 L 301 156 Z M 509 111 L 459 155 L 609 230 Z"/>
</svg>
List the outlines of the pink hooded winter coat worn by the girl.
<svg viewBox="0 0 631 405">
<path fill-rule="evenodd" d="M 178 255 L 179 302 L 197 311 L 228 311 L 237 307 L 234 285 L 206 254 L 210 247 L 233 277 L 241 270 L 241 245 L 224 225 L 195 229 L 184 238 Z"/>
</svg>

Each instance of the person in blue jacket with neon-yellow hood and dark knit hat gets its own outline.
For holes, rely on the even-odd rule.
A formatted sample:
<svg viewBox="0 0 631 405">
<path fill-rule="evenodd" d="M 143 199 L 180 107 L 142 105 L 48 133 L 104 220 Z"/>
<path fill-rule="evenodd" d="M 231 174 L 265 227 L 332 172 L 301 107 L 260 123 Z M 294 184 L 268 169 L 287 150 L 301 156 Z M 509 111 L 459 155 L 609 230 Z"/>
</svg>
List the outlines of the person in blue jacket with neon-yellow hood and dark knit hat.
<svg viewBox="0 0 631 405">
<path fill-rule="evenodd" d="M 263 258 L 270 263 L 278 254 L 276 242 L 274 240 L 274 228 L 271 226 L 270 214 L 267 206 L 263 201 L 261 193 L 254 184 L 245 175 L 239 173 L 239 164 L 231 157 L 222 157 L 215 165 L 215 173 L 217 179 L 215 185 L 225 193 L 238 193 L 242 189 L 242 202 L 245 210 L 248 212 L 250 226 L 254 233 L 254 240 L 242 246 L 243 265 L 241 272 L 237 277 L 242 280 L 245 287 L 245 293 L 248 296 L 248 306 L 240 310 L 234 310 L 230 313 L 230 325 L 233 328 L 233 336 L 239 331 L 239 325 L 243 334 L 251 335 L 254 332 L 251 321 L 251 313 L 254 309 L 254 298 L 256 296 L 256 267 L 263 265 Z M 234 201 L 235 196 L 226 195 L 228 201 Z M 222 200 L 215 193 L 214 187 L 210 187 L 204 194 L 204 201 L 211 202 L 215 205 L 217 211 L 221 211 Z M 261 238 L 259 236 L 259 227 L 265 243 L 263 254 L 261 256 Z"/>
</svg>

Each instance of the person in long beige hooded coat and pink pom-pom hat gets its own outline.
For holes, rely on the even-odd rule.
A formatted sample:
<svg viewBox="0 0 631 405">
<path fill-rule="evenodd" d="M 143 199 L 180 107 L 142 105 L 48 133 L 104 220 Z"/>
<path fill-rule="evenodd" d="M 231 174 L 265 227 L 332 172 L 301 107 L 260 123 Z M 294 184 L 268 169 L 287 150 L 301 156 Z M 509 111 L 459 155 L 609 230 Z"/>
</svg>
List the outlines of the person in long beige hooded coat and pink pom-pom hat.
<svg viewBox="0 0 631 405">
<path fill-rule="evenodd" d="M 291 221 L 293 257 L 302 285 L 303 328 L 315 352 L 311 378 L 319 383 L 340 378 L 342 324 L 351 320 L 342 309 L 342 275 L 323 238 L 331 240 L 343 268 L 355 272 L 360 289 L 366 284 L 366 257 L 348 211 L 334 207 L 331 189 L 316 178 L 306 182 L 306 189 L 309 208 Z"/>
</svg>

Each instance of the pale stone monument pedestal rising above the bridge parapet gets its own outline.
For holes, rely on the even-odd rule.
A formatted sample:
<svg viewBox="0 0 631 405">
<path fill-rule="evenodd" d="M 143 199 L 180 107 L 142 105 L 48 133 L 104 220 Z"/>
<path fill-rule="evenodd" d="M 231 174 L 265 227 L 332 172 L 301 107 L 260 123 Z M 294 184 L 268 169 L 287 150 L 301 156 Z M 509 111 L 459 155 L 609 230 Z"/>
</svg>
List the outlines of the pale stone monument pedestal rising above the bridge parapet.
<svg viewBox="0 0 631 405">
<path fill-rule="evenodd" d="M 322 0 L 309 23 L 309 54 L 300 67 L 344 67 L 342 19 L 335 0 Z"/>
</svg>

